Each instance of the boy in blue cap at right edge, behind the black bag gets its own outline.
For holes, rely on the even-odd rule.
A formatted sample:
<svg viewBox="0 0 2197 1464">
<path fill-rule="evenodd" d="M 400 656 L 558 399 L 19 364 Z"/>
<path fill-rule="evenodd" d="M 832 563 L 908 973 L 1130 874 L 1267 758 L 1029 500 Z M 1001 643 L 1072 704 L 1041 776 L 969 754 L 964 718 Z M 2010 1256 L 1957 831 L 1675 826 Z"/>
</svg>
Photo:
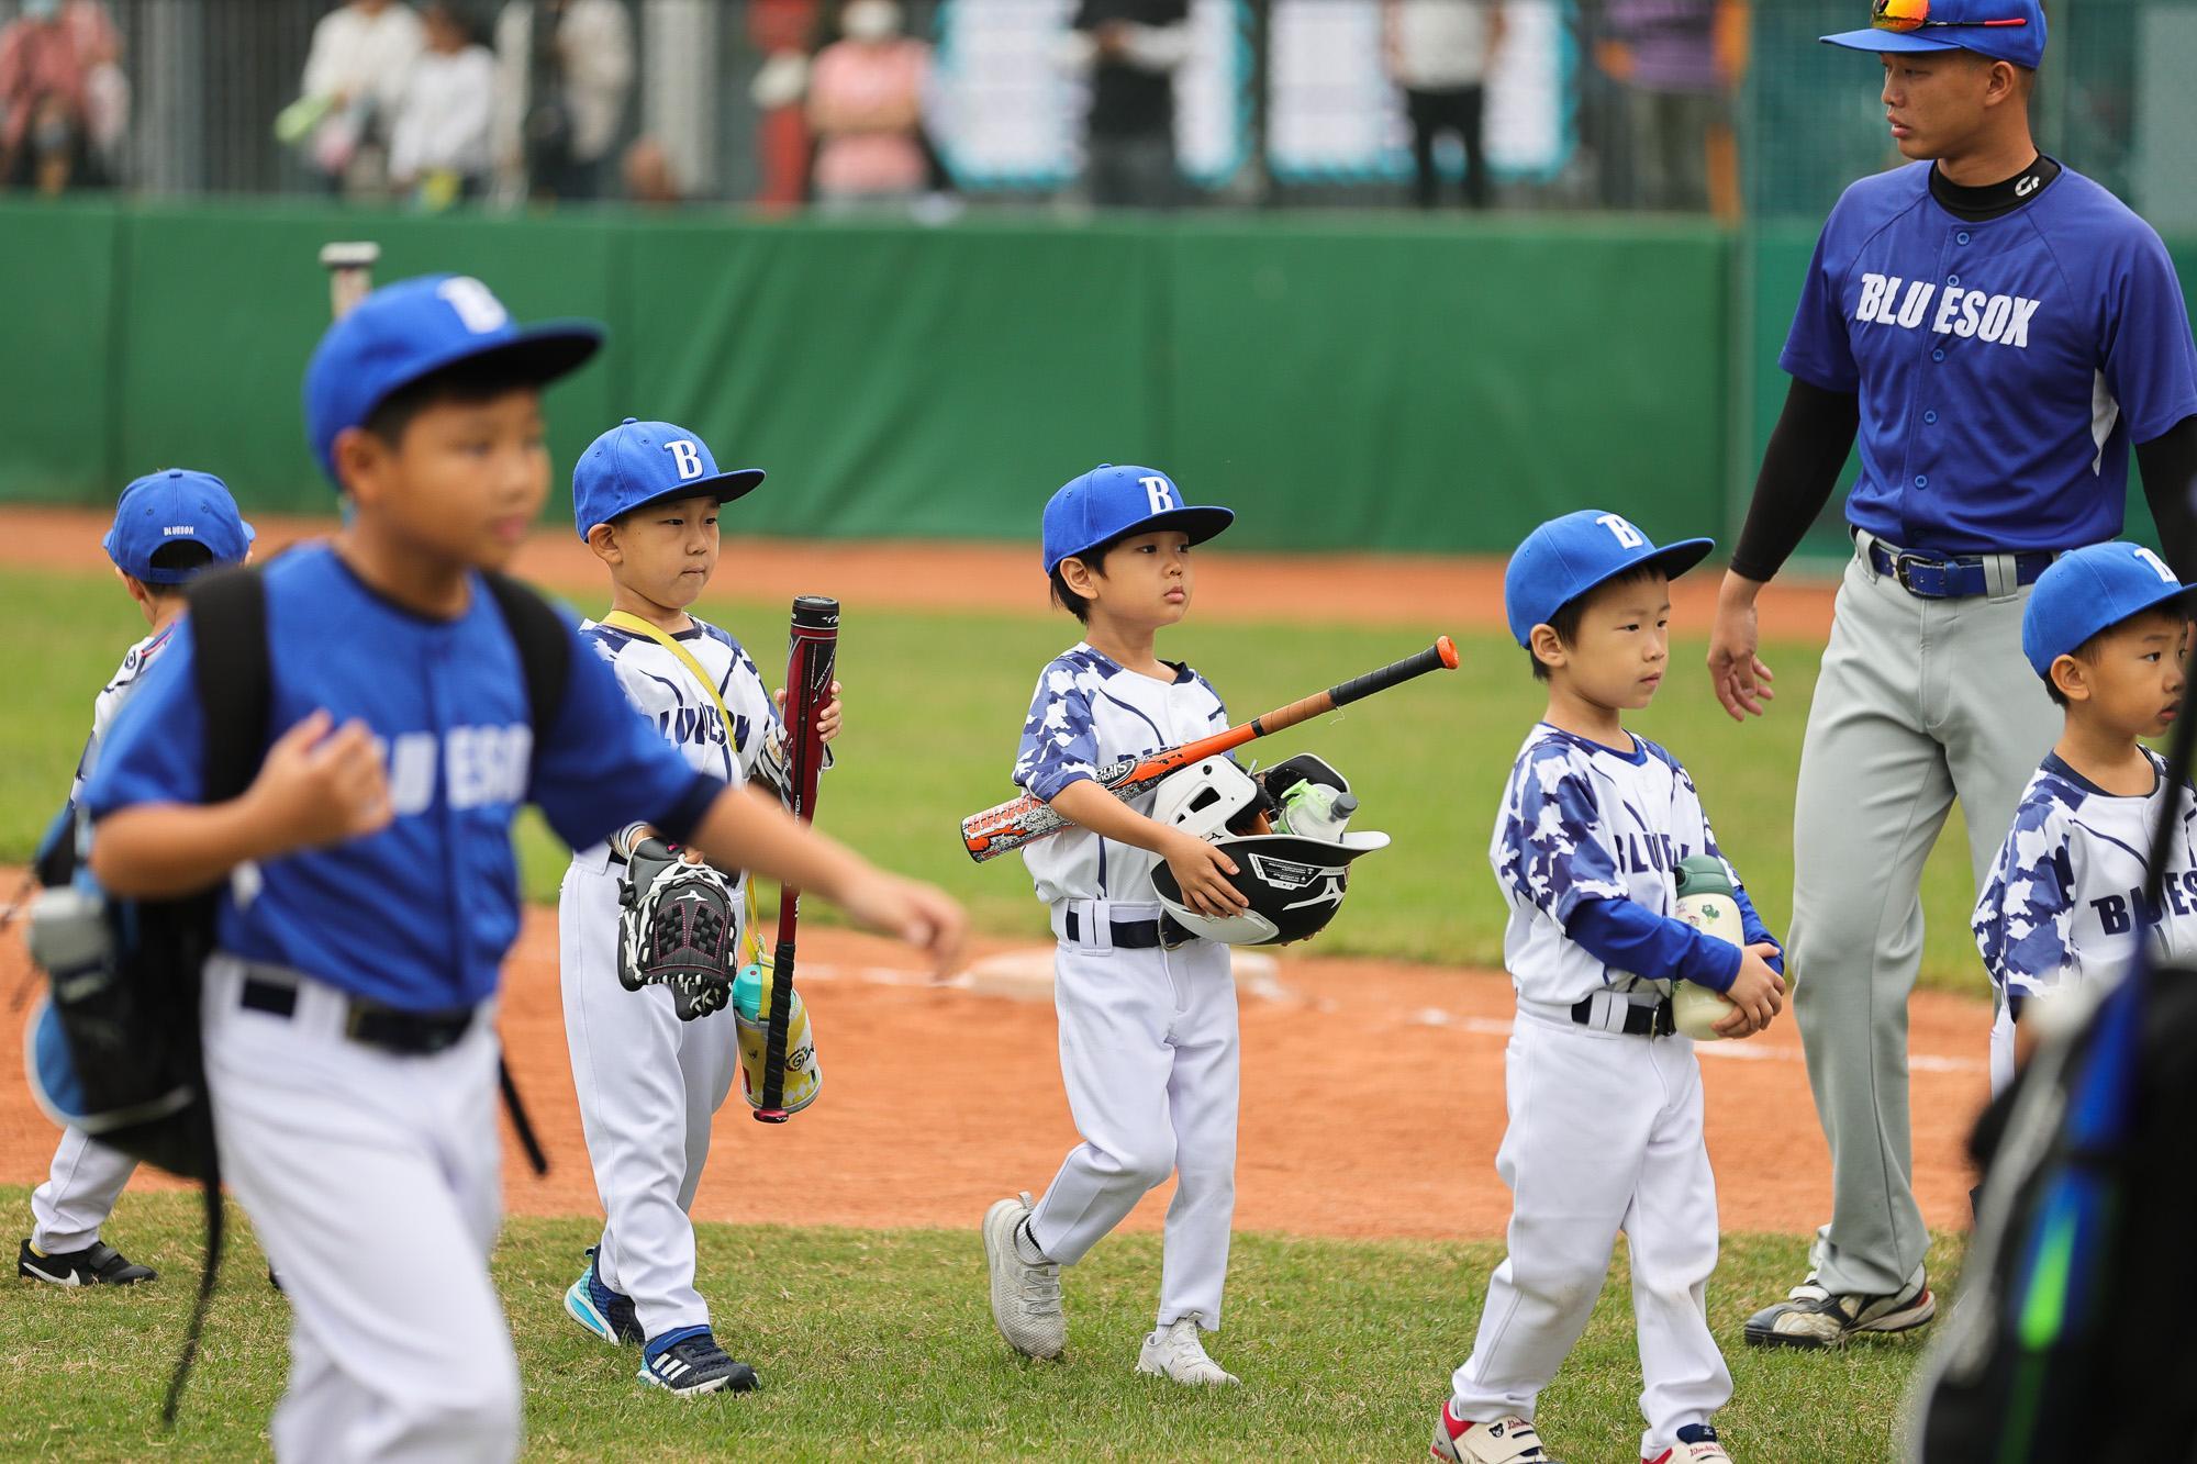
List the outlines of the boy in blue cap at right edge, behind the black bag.
<svg viewBox="0 0 2197 1464">
<path fill-rule="evenodd" d="M 1971 921 L 1999 996 L 1993 1093 L 2015 1077 L 2034 1002 L 2111 980 L 2146 936 L 2155 954 L 2197 952 L 2197 807 L 2135 741 L 2166 732 L 2182 710 L 2186 594 L 2157 554 L 2116 541 L 2061 556 L 2021 611 L 2021 653 L 2065 723 L 2015 805 Z M 2166 798 L 2177 822 L 2153 908 L 2144 855 Z"/>
</svg>

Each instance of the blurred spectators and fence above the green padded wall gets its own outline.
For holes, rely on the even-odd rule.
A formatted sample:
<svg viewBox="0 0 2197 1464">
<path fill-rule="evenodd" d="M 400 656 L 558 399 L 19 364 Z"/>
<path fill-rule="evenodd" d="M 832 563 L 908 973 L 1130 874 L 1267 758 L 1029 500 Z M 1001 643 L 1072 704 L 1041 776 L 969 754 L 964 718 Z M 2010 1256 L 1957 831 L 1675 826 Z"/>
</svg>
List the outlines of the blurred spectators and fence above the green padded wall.
<svg viewBox="0 0 2197 1464">
<path fill-rule="evenodd" d="M 1874 68 L 1813 46 L 1865 9 L 0 0 L 0 176 L 918 220 L 1017 202 L 1819 213 L 1826 187 L 1896 160 Z M 2052 9 L 2048 136 L 2109 187 L 2190 182 L 2193 88 L 2175 77 L 2197 64 L 2197 4 Z M 2173 138 L 2151 158 L 2146 125 Z"/>
</svg>

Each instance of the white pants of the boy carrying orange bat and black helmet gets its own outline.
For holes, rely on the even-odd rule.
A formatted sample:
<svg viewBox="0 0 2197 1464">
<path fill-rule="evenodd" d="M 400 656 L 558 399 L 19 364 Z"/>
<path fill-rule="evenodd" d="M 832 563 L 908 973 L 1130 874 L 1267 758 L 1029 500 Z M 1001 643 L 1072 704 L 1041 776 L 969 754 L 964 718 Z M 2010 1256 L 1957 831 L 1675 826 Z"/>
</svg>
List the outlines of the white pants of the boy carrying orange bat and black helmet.
<svg viewBox="0 0 2197 1464">
<path fill-rule="evenodd" d="M 1030 1238 L 1070 1266 L 1173 1174 L 1158 1323 L 1195 1312 L 1217 1330 L 1235 1220 L 1237 1005 L 1228 947 L 1191 941 L 1171 952 L 1114 950 L 1109 919 L 1153 919 L 1158 906 L 1077 906 L 1096 917 L 1081 925 L 1085 943 L 1061 939 L 1052 1005 L 1061 1079 L 1083 1143 L 1037 1202 Z"/>
</svg>

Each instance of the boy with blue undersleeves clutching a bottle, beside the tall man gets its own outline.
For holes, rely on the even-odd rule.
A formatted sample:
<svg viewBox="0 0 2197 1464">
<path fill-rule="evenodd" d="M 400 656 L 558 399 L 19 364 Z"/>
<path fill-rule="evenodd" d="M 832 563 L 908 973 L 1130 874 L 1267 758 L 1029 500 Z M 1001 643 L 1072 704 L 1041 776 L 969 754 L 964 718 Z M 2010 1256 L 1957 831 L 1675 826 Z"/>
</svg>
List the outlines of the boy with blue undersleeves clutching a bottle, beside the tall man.
<svg viewBox="0 0 2197 1464">
<path fill-rule="evenodd" d="M 1549 1460 L 1534 1402 L 1580 1339 L 1626 1233 L 1639 1328 L 1643 1464 L 1725 1460 L 1709 1422 L 1731 1374 L 1703 1297 L 1716 1268 L 1716 1176 L 1700 1064 L 1672 1031 L 1672 983 L 1725 994 L 1727 1038 L 1782 1007 L 1780 952 L 1738 875 L 1744 950 L 1674 917 L 1674 870 L 1714 855 L 1694 780 L 1626 732 L 1670 662 L 1670 576 L 1707 539 L 1657 547 L 1617 514 L 1534 530 L 1503 576 L 1512 635 L 1549 684 L 1496 813 L 1487 857 L 1509 901 L 1503 961 L 1518 991 L 1505 1051 L 1509 1255 L 1487 1279 L 1479 1339 L 1435 1424 L 1437 1460 Z"/>
</svg>

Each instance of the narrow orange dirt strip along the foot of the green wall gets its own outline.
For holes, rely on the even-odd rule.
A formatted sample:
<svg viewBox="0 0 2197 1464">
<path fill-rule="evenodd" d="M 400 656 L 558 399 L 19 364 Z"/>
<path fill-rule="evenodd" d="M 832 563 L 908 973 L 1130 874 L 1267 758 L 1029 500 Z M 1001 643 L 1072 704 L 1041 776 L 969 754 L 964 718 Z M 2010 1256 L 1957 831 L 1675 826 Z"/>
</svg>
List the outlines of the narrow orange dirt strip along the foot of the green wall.
<svg viewBox="0 0 2197 1464">
<path fill-rule="evenodd" d="M 99 539 L 110 512 L 0 508 L 0 565 L 22 569 L 105 567 Z M 259 552 L 325 534 L 327 519 L 253 514 Z M 819 587 L 857 585 L 848 605 L 877 609 L 1046 609 L 1037 552 L 1026 543 L 877 543 L 725 539 L 740 591 L 791 600 Z M 576 536 L 536 530 L 514 572 L 589 600 L 602 594 L 602 565 Z M 1292 624 L 1435 624 L 1454 631 L 1503 626 L 1503 563 L 1432 554 L 1228 554 L 1197 561 L 1200 620 Z M 1830 633 L 1828 583 L 1773 583 L 1762 594 L 1766 637 L 1824 640 Z M 1689 574 L 1672 594 L 1679 626 L 1703 633 L 1716 607 L 1716 576 Z"/>
</svg>

